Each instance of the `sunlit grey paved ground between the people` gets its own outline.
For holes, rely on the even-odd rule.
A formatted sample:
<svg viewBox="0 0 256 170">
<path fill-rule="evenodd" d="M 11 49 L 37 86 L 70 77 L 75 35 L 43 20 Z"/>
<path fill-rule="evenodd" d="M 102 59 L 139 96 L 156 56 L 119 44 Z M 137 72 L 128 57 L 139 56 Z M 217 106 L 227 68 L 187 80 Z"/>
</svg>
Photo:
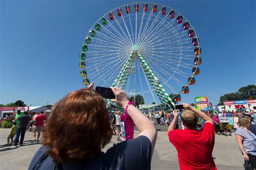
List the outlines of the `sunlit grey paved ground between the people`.
<svg viewBox="0 0 256 170">
<path fill-rule="evenodd" d="M 156 147 L 151 161 L 151 169 L 179 169 L 179 162 L 176 148 L 170 143 L 167 137 L 167 126 L 156 125 L 158 137 Z M 41 143 L 30 143 L 33 139 L 32 132 L 26 132 L 24 146 L 12 148 L 5 147 L 6 138 L 10 129 L 0 129 L 0 169 L 28 169 L 33 155 L 36 153 Z M 139 132 L 135 129 L 134 137 Z M 110 143 L 105 146 L 103 151 L 118 143 L 116 136 L 113 136 Z M 244 169 L 242 166 L 244 158 L 239 151 L 234 133 L 232 136 L 215 136 L 213 150 L 214 162 L 218 169 Z"/>
</svg>

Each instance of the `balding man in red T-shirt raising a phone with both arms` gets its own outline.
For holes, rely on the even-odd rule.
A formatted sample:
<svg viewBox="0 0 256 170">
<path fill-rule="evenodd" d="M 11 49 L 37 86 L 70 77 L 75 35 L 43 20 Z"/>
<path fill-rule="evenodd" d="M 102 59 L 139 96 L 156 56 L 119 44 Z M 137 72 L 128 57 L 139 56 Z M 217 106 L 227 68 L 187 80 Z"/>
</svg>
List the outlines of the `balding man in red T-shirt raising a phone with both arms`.
<svg viewBox="0 0 256 170">
<path fill-rule="evenodd" d="M 177 110 L 173 111 L 173 121 L 168 128 L 168 136 L 178 152 L 180 169 L 217 169 L 212 158 L 214 146 L 214 126 L 212 119 L 204 112 L 183 103 L 186 109 L 181 114 L 184 130 L 175 129 L 178 119 Z M 197 130 L 197 115 L 205 121 Z"/>
</svg>

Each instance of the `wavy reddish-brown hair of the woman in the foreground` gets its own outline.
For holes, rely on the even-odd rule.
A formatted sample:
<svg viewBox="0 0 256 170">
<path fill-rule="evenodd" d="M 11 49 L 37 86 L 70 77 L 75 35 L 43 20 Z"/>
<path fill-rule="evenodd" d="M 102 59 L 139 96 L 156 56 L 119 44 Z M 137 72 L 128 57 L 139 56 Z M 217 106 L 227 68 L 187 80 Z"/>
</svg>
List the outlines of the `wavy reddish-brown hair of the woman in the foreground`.
<svg viewBox="0 0 256 170">
<path fill-rule="evenodd" d="M 104 98 L 83 88 L 72 91 L 52 108 L 43 145 L 53 160 L 66 163 L 95 158 L 111 137 Z"/>
</svg>

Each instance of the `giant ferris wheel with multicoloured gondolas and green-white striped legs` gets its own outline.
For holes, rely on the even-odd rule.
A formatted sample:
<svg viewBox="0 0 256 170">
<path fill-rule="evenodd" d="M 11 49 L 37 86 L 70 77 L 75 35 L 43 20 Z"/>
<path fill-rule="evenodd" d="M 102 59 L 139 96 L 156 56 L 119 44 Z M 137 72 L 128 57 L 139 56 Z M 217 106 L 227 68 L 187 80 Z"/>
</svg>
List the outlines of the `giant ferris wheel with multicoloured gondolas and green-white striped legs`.
<svg viewBox="0 0 256 170">
<path fill-rule="evenodd" d="M 200 53 L 196 31 L 179 12 L 131 3 L 93 24 L 80 53 L 80 75 L 85 85 L 122 87 L 127 95 L 173 108 L 196 83 Z"/>
</svg>

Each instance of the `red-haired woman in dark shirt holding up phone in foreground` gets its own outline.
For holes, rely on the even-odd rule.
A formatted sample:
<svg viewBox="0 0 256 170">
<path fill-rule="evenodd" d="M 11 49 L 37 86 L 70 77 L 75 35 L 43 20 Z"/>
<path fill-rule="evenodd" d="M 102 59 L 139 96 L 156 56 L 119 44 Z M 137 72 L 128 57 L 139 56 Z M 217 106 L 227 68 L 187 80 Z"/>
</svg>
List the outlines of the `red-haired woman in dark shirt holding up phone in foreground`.
<svg viewBox="0 0 256 170">
<path fill-rule="evenodd" d="M 93 83 L 72 91 L 54 105 L 44 129 L 44 146 L 29 169 L 150 169 L 156 128 L 117 87 L 111 87 L 116 96 L 112 102 L 127 110 L 140 133 L 101 151 L 111 140 L 112 129 L 105 100 L 92 88 Z"/>
</svg>

